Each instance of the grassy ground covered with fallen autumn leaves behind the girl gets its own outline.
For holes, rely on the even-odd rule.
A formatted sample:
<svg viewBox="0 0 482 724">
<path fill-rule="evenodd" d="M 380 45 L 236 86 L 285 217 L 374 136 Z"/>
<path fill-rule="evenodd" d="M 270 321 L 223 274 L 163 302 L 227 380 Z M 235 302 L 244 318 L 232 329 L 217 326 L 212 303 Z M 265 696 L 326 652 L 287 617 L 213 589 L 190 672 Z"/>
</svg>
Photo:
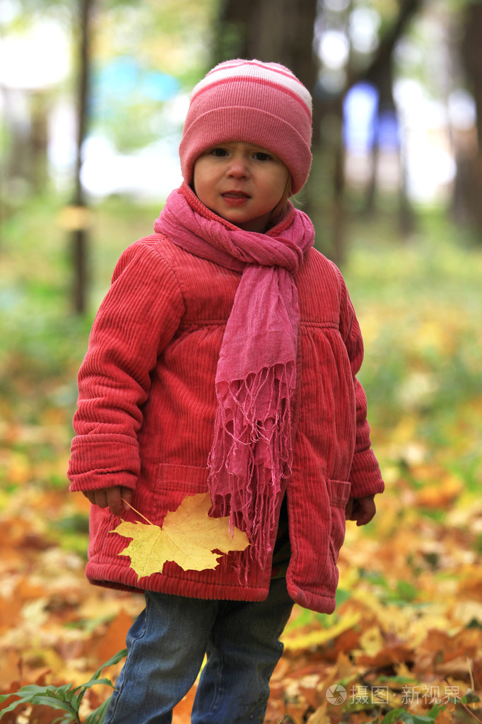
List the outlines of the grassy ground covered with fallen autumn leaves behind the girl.
<svg viewBox="0 0 482 724">
<path fill-rule="evenodd" d="M 85 683 L 142 607 L 84 577 L 88 503 L 67 492 L 66 466 L 92 313 L 69 313 L 54 211 L 38 203 L 11 219 L 0 251 L 0 694 Z M 150 211 L 97 210 L 92 310 L 116 257 L 149 232 Z M 267 724 L 482 720 L 482 251 L 442 221 L 423 217 L 405 245 L 389 229 L 353 229 L 344 271 L 387 491 L 370 526 L 348 523 L 335 614 L 294 610 Z M 121 664 L 102 678 L 115 681 Z M 87 689 L 79 720 L 110 692 Z M 175 724 L 189 722 L 192 695 Z M 62 713 L 23 704 L 1 722 Z"/>
</svg>

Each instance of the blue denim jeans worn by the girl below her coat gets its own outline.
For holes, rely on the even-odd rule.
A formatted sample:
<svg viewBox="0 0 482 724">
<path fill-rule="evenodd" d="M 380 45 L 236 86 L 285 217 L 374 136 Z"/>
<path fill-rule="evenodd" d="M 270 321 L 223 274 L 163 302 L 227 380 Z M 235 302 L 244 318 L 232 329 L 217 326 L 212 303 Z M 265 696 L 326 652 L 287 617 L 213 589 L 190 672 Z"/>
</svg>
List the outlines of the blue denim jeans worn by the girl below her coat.
<svg viewBox="0 0 482 724">
<path fill-rule="evenodd" d="M 285 579 L 272 580 L 261 602 L 145 597 L 145 610 L 127 634 L 127 659 L 104 724 L 171 724 L 205 654 L 191 723 L 261 723 L 293 607 Z"/>
</svg>

